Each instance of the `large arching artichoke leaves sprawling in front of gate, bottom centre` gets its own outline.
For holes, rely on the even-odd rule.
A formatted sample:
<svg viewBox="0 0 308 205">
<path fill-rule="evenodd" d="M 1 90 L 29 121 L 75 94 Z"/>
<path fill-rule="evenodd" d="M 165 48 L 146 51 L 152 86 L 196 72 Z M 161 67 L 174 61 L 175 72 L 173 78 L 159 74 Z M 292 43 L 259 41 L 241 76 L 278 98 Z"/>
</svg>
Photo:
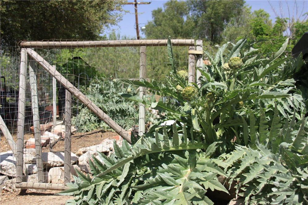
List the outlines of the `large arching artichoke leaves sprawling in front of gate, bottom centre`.
<svg viewBox="0 0 308 205">
<path fill-rule="evenodd" d="M 155 138 L 141 137 L 133 146 L 126 141 L 119 147 L 115 142 L 110 157 L 99 153 L 100 160 L 89 160 L 91 173 L 77 171 L 75 183 L 61 195 L 75 195 L 67 204 L 213 204 L 204 194 L 206 189 L 228 190 L 220 184 L 217 175 L 226 176 L 210 157 L 218 143 L 210 146 L 190 141 L 187 132 L 178 134 L 176 124 L 173 135 L 167 128 L 163 134 L 156 131 Z M 201 149 L 206 152 L 201 152 Z"/>
</svg>

